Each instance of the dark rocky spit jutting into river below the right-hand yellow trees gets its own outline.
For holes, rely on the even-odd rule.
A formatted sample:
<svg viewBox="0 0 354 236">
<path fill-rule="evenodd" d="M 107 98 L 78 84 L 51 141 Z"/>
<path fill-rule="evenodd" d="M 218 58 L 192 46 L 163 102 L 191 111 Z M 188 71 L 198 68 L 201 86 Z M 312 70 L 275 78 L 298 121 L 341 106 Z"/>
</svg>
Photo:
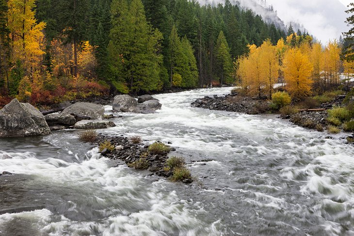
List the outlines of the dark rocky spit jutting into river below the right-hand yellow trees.
<svg viewBox="0 0 354 236">
<path fill-rule="evenodd" d="M 193 107 L 210 110 L 225 110 L 246 114 L 259 114 L 271 110 L 271 103 L 267 100 L 227 94 L 225 96 L 205 96 L 192 103 Z"/>
</svg>

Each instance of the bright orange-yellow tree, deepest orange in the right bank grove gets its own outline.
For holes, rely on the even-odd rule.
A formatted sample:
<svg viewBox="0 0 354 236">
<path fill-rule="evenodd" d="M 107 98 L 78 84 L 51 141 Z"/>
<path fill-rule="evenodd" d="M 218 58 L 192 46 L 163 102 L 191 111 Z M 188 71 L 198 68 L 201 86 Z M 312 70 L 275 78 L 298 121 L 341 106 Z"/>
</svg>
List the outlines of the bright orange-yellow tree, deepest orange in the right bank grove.
<svg viewBox="0 0 354 236">
<path fill-rule="evenodd" d="M 284 76 L 287 90 L 295 97 L 310 94 L 313 65 L 299 48 L 290 48 L 284 56 Z"/>
</svg>

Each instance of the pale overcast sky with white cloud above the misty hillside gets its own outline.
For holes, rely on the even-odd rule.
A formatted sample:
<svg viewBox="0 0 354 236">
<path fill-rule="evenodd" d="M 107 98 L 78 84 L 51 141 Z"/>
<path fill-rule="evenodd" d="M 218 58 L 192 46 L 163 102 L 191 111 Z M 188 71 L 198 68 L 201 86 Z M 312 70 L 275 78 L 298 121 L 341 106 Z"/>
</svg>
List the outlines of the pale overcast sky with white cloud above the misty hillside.
<svg viewBox="0 0 354 236">
<path fill-rule="evenodd" d="M 287 24 L 299 22 L 322 43 L 347 31 L 344 12 L 351 0 L 267 0 Z"/>
</svg>

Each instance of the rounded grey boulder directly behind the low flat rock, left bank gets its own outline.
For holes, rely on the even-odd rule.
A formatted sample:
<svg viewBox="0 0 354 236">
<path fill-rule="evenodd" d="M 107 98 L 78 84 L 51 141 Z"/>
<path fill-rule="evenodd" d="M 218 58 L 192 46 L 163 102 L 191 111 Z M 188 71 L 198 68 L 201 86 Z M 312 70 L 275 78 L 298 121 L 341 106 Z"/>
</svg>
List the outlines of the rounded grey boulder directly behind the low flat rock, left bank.
<svg viewBox="0 0 354 236">
<path fill-rule="evenodd" d="M 102 120 L 104 114 L 104 107 L 101 105 L 78 102 L 65 108 L 61 114 L 71 114 L 75 116 L 76 120 Z"/>
</svg>

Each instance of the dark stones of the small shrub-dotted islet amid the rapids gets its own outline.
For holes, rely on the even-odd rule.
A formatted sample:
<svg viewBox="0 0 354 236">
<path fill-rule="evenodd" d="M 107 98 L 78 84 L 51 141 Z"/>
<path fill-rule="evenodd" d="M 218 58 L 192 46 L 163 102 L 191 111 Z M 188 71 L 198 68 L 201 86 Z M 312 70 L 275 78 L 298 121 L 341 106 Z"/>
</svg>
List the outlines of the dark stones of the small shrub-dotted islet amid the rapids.
<svg viewBox="0 0 354 236">
<path fill-rule="evenodd" d="M 113 146 L 113 150 L 104 148 L 101 151 L 101 155 L 108 157 L 112 160 L 120 160 L 116 165 L 127 164 L 130 167 L 135 167 L 135 169 L 147 169 L 158 176 L 170 177 L 172 176 L 172 170 L 165 168 L 166 160 L 169 158 L 167 155 L 171 151 L 176 151 L 175 148 L 168 147 L 168 151 L 162 152 L 160 154 L 152 154 L 148 151 L 149 145 L 144 145 L 141 143 L 133 143 L 128 137 L 121 136 L 105 136 L 98 135 L 95 143 L 100 145 L 104 142 L 110 142 Z M 136 163 L 141 163 L 144 166 L 137 166 Z M 182 180 L 184 183 L 192 183 L 191 178 L 186 178 Z"/>
</svg>

